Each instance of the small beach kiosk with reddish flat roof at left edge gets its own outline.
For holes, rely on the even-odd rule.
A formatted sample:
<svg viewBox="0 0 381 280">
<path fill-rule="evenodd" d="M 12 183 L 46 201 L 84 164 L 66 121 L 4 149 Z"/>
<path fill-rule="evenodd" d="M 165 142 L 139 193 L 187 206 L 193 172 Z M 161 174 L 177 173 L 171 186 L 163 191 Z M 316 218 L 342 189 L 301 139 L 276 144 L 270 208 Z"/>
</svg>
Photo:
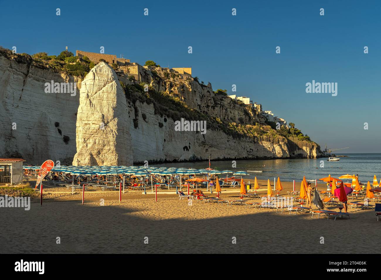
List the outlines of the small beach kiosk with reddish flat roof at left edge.
<svg viewBox="0 0 381 280">
<path fill-rule="evenodd" d="M 22 183 L 22 158 L 0 158 L 0 184 Z"/>
</svg>

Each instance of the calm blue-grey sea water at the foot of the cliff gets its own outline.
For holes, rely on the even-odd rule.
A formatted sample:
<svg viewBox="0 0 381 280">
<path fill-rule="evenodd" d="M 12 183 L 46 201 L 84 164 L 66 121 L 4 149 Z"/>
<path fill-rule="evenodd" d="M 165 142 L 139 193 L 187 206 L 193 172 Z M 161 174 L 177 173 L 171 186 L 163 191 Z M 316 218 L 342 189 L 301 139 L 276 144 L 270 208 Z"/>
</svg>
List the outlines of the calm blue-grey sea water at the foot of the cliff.
<svg viewBox="0 0 381 280">
<path fill-rule="evenodd" d="M 231 161 L 212 161 L 211 168 L 219 168 L 219 170 L 231 171 L 263 171 L 250 173 L 243 178 L 271 179 L 280 177 L 282 181 L 300 181 L 303 176 L 309 181 L 314 181 L 331 174 L 338 177 L 344 174 L 359 174 L 361 182 L 373 182 L 373 176 L 376 174 L 377 179 L 381 176 L 381 154 L 336 154 L 347 155 L 348 157 L 339 157 L 338 162 L 328 162 L 328 158 L 317 159 L 276 159 L 276 160 L 237 160 L 237 167 L 232 168 Z M 320 167 L 320 161 L 324 162 L 324 167 Z M 264 166 L 263 166 L 264 165 Z M 154 165 L 156 167 L 186 167 L 186 168 L 207 168 L 208 162 L 192 162 L 192 163 L 165 163 Z M 230 176 L 230 175 L 229 175 Z M 346 182 L 345 180 L 343 180 Z"/>
</svg>

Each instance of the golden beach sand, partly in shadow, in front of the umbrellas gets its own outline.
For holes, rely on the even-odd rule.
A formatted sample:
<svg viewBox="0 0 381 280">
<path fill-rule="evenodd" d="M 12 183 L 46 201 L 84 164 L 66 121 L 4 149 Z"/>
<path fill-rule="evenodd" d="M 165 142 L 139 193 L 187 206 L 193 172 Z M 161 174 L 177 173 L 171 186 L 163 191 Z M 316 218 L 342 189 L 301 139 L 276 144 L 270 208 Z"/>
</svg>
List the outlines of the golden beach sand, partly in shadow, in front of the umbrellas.
<svg viewBox="0 0 381 280">
<path fill-rule="evenodd" d="M 252 180 L 251 180 L 251 183 Z M 266 194 L 267 181 L 259 181 Z M 272 181 L 272 184 L 274 181 Z M 312 183 L 314 185 L 314 183 Z M 281 195 L 292 190 L 282 182 Z M 239 188 L 222 188 L 221 198 L 237 199 Z M 296 190 L 300 181 L 296 182 Z M 319 184 L 325 189 L 325 184 Z M 351 219 L 319 220 L 309 213 L 245 208 L 179 200 L 178 195 L 126 192 L 67 192 L 45 188 L 43 206 L 0 208 L 0 253 L 379 253 L 374 210 L 350 209 Z M 203 190 L 207 195 L 206 190 Z M 51 194 L 48 194 L 51 193 Z M 208 195 L 211 197 L 210 192 Z M 104 206 L 101 206 L 104 199 Z M 245 198 L 252 202 L 261 200 Z M 356 201 L 356 200 L 354 200 Z M 362 202 L 362 201 L 359 201 Z M 374 203 L 370 203 L 373 204 Z M 338 211 L 337 208 L 329 207 Z M 57 237 L 60 244 L 57 244 Z M 148 238 L 148 244 L 144 241 Z M 320 243 L 321 237 L 324 244 Z M 233 239 L 236 238 L 236 244 Z"/>
</svg>

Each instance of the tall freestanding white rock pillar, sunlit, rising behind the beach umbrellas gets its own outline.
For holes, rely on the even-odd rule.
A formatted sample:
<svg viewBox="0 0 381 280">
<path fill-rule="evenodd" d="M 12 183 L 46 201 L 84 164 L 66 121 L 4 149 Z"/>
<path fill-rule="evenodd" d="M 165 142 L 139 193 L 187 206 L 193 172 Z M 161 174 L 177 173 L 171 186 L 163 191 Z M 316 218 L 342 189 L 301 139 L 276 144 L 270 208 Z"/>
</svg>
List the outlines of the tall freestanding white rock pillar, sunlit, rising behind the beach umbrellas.
<svg viewBox="0 0 381 280">
<path fill-rule="evenodd" d="M 133 163 L 126 108 L 125 94 L 115 71 L 100 62 L 81 85 L 73 165 Z"/>
</svg>

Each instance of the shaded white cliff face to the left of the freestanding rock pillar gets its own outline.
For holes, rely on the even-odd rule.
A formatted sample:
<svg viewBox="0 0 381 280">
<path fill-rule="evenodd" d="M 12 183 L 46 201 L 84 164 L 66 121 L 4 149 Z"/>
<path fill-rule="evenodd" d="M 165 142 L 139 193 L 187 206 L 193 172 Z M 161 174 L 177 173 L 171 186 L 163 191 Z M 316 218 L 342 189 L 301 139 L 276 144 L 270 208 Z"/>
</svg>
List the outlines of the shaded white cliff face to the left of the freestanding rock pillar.
<svg viewBox="0 0 381 280">
<path fill-rule="evenodd" d="M 45 83 L 77 83 L 77 94 L 46 93 Z M 0 156 L 70 165 L 80 80 L 0 55 Z"/>
</svg>

